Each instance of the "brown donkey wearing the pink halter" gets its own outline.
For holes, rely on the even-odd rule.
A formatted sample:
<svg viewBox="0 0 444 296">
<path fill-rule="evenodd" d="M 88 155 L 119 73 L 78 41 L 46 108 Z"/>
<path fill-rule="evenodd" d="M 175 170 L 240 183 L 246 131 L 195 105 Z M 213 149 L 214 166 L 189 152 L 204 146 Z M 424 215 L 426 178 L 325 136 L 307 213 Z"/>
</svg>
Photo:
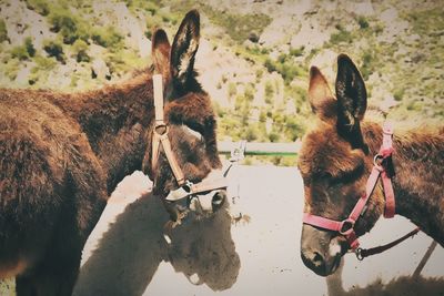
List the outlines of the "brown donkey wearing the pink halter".
<svg viewBox="0 0 444 296">
<path fill-rule="evenodd" d="M 303 139 L 299 169 L 305 213 L 343 221 L 365 193 L 383 131 L 381 123 L 363 121 L 367 105 L 364 81 L 345 54 L 337 58 L 335 89 L 336 98 L 319 69 L 311 69 L 309 98 L 317 123 Z M 392 155 L 396 213 L 444 246 L 444 127 L 401 129 L 394 126 Z M 373 227 L 384 203 L 379 184 L 356 221 L 357 236 Z M 334 273 L 349 247 L 336 232 L 303 225 L 301 257 L 319 275 Z"/>
</svg>

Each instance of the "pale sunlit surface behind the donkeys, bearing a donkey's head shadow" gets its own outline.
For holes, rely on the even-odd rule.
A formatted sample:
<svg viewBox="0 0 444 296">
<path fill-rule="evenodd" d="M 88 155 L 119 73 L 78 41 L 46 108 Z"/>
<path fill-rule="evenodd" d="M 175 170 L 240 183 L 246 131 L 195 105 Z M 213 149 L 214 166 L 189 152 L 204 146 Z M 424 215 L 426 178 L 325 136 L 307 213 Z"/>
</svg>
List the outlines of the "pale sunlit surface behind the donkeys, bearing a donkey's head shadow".
<svg viewBox="0 0 444 296">
<path fill-rule="evenodd" d="M 148 194 L 150 181 L 141 173 L 127 177 L 87 243 L 74 295 L 327 295 L 325 278 L 299 255 L 303 187 L 297 170 L 238 166 L 230 177 L 240 184 L 240 202 L 231 211 L 249 215 L 250 223 L 232 224 L 222 211 L 174 229 L 170 247 L 162 237 L 168 217 Z M 412 227 L 401 217 L 381 220 L 361 242 L 374 246 Z M 420 234 L 364 262 L 347 255 L 343 288 L 411 275 L 430 243 Z M 422 275 L 443 277 L 443 263 L 438 246 Z"/>
</svg>

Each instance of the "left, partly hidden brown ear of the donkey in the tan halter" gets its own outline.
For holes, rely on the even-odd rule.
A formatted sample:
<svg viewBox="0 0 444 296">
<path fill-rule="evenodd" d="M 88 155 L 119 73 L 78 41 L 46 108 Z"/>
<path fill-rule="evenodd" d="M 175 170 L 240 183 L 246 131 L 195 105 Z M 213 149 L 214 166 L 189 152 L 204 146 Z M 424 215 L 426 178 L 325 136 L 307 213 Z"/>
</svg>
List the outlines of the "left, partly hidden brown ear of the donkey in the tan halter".
<svg viewBox="0 0 444 296">
<path fill-rule="evenodd" d="M 154 30 L 151 39 L 151 52 L 155 72 L 167 78 L 170 74 L 170 42 L 165 31 Z"/>
</svg>

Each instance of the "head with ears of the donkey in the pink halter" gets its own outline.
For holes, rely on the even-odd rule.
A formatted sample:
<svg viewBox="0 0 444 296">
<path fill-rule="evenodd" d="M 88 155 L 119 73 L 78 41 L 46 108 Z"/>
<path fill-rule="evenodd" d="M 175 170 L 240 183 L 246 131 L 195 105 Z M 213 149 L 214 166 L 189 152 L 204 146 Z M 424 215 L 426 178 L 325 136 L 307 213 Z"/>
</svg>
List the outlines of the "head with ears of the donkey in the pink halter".
<svg viewBox="0 0 444 296">
<path fill-rule="evenodd" d="M 372 157 L 364 142 L 361 122 L 366 110 L 364 81 L 352 60 L 337 58 L 336 98 L 320 70 L 310 70 L 309 98 L 317 116 L 315 127 L 304 139 L 299 169 L 304 182 L 305 213 L 345 220 L 365 193 Z M 375 194 L 354 225 L 357 236 L 373 227 L 382 212 Z M 349 249 L 346 239 L 336 232 L 304 224 L 301 257 L 319 275 L 326 276 L 337 268 Z"/>
</svg>

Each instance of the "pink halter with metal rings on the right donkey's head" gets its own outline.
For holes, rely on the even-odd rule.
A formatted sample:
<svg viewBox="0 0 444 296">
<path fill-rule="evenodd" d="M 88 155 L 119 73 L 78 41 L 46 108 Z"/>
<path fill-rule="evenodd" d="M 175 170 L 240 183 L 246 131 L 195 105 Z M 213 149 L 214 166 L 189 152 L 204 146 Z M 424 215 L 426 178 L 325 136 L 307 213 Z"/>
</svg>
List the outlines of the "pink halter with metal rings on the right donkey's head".
<svg viewBox="0 0 444 296">
<path fill-rule="evenodd" d="M 385 195 L 384 217 L 393 217 L 395 215 L 395 197 L 393 193 L 391 175 L 386 171 L 387 167 L 392 165 L 390 163 L 390 157 L 392 156 L 392 153 L 394 151 L 392 135 L 393 129 L 391 124 L 385 123 L 383 126 L 383 143 L 381 145 L 380 152 L 374 157 L 373 169 L 365 187 L 365 194 L 359 198 L 356 205 L 354 206 L 352 213 L 350 213 L 347 218 L 340 222 L 322 216 L 312 215 L 310 213 L 304 213 L 302 218 L 303 223 L 327 231 L 337 232 L 346 238 L 351 249 L 356 249 L 360 246 L 360 243 L 357 242 L 354 226 L 360 216 L 365 212 L 366 203 L 372 195 L 373 190 L 375 188 L 377 180 L 380 177 L 382 180 Z"/>
</svg>

